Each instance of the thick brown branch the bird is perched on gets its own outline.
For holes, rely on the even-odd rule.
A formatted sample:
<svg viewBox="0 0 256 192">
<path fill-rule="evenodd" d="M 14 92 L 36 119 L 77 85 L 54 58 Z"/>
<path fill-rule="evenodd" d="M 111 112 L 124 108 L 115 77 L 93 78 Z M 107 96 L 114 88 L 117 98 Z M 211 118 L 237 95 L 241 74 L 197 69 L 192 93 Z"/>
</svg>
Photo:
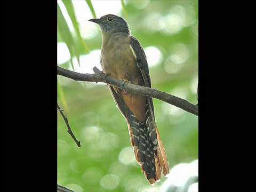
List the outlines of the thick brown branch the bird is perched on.
<svg viewBox="0 0 256 192">
<path fill-rule="evenodd" d="M 128 82 L 123 82 L 121 80 L 115 79 L 113 77 L 107 76 L 102 73 L 97 67 L 93 68 L 95 74 L 81 74 L 74 71 L 70 71 L 61 67 L 57 67 L 58 75 L 65 76 L 75 81 L 85 81 L 85 82 L 104 82 L 110 85 L 117 86 L 119 89 L 126 90 L 128 93 L 134 93 L 139 95 L 144 95 L 152 98 L 162 100 L 164 102 L 170 103 L 176 107 L 188 111 L 191 114 L 198 116 L 198 106 L 188 102 L 185 99 L 175 97 L 174 95 L 165 93 L 163 91 L 158 91 L 149 87 L 144 87 L 140 85 L 134 85 Z"/>
</svg>

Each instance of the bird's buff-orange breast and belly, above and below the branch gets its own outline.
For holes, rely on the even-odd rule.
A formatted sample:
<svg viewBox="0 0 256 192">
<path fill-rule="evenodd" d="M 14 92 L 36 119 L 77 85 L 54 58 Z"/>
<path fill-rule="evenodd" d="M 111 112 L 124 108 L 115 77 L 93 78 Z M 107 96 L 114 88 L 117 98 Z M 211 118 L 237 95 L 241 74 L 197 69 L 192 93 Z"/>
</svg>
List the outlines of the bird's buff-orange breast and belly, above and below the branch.
<svg viewBox="0 0 256 192">
<path fill-rule="evenodd" d="M 116 79 L 126 79 L 133 84 L 144 85 L 136 59 L 130 48 L 130 39 L 128 37 L 115 36 L 108 39 L 108 41 L 103 41 L 101 51 L 104 73 Z M 145 97 L 125 93 L 125 91 L 116 88 L 115 91 L 135 117 L 139 121 L 145 122 Z"/>
</svg>

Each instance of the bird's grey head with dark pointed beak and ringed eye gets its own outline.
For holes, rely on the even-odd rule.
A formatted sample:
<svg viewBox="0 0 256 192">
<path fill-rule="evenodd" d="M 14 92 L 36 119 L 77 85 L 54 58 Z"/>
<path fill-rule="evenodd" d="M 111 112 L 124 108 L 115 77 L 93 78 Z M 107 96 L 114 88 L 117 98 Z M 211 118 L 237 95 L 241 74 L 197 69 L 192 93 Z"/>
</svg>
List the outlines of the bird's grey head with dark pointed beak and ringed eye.
<svg viewBox="0 0 256 192">
<path fill-rule="evenodd" d="M 117 15 L 107 14 L 100 19 L 90 19 L 100 26 L 102 35 L 123 32 L 130 35 L 130 29 L 127 22 Z"/>
</svg>

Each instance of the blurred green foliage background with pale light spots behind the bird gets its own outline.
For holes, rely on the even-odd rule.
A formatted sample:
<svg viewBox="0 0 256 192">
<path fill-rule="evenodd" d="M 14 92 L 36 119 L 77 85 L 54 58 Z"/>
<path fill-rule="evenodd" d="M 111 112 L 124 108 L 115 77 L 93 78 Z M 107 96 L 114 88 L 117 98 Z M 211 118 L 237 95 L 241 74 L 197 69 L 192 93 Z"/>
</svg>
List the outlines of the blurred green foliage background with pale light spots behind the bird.
<svg viewBox="0 0 256 192">
<path fill-rule="evenodd" d="M 123 17 L 145 50 L 154 88 L 197 103 L 198 1 L 58 0 L 58 65 L 101 69 L 102 36 L 89 19 Z M 151 187 L 135 162 L 123 116 L 103 83 L 58 76 L 58 184 L 81 191 L 198 191 L 198 117 L 154 99 L 170 174 Z"/>
</svg>

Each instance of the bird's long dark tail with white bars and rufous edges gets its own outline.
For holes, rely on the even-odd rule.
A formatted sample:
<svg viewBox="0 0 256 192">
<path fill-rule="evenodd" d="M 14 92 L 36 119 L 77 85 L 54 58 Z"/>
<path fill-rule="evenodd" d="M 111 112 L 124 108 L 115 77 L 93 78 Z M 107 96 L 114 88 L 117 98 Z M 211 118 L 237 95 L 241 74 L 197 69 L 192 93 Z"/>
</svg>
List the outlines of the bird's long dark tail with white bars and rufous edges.
<svg viewBox="0 0 256 192">
<path fill-rule="evenodd" d="M 127 124 L 136 161 L 149 183 L 154 184 L 161 179 L 161 172 L 169 173 L 169 164 L 155 122 L 151 115 L 146 113 L 146 117 L 146 123 L 142 123 L 130 111 Z"/>
</svg>

